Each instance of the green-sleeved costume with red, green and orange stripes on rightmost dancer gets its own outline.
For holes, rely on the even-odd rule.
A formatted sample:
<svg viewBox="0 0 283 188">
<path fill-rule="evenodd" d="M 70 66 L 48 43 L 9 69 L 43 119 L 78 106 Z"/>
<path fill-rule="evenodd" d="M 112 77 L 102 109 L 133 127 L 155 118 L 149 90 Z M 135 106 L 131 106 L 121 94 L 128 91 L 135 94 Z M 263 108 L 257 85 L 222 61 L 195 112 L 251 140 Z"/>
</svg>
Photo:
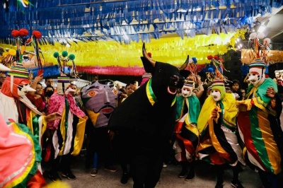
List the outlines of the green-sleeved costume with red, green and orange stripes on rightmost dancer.
<svg viewBox="0 0 283 188">
<path fill-rule="evenodd" d="M 265 95 L 268 87 L 277 92 L 277 85 L 271 78 L 266 78 L 258 87 L 250 84 L 247 99 L 237 102 L 238 106 L 247 107 L 246 112 L 238 114 L 238 129 L 250 163 L 277 175 L 282 170 L 282 153 L 278 148 L 282 143 L 277 144 L 276 138 L 282 134 L 282 130 L 276 121 L 275 109 L 270 106 L 274 100 Z M 279 99 L 276 100 L 278 102 Z"/>
</svg>

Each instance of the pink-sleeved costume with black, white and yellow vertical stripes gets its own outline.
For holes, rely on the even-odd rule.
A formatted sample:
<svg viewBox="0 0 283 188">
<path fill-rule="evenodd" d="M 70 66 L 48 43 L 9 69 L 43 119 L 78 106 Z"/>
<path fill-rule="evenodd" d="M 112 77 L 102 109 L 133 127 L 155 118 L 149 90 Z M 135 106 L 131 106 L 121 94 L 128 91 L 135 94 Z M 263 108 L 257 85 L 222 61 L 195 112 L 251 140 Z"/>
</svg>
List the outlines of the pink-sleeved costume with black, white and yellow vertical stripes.
<svg viewBox="0 0 283 188">
<path fill-rule="evenodd" d="M 54 93 L 50 98 L 47 113 L 59 112 L 62 119 L 50 121 L 48 129 L 56 130 L 52 138 L 54 146 L 54 158 L 57 155 L 79 155 L 83 144 L 84 130 L 86 127 L 86 114 L 76 106 L 71 94 L 59 95 Z M 74 134 L 74 132 L 76 134 Z"/>
</svg>

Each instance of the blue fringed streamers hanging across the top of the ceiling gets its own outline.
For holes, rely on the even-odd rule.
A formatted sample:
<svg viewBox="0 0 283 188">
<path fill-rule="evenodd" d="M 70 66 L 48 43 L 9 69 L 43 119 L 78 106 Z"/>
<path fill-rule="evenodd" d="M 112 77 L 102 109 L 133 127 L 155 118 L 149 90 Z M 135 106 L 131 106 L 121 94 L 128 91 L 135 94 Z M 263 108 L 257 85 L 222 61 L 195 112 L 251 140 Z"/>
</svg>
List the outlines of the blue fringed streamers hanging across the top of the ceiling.
<svg viewBox="0 0 283 188">
<path fill-rule="evenodd" d="M 282 0 L 30 0 L 4 1 L 0 8 L 0 41 L 15 43 L 11 30 L 42 33 L 41 44 L 115 40 L 149 42 L 166 33 L 181 38 L 233 33 L 251 27 L 253 16 L 270 13 Z M 23 2 L 26 2 L 23 4 Z"/>
</svg>

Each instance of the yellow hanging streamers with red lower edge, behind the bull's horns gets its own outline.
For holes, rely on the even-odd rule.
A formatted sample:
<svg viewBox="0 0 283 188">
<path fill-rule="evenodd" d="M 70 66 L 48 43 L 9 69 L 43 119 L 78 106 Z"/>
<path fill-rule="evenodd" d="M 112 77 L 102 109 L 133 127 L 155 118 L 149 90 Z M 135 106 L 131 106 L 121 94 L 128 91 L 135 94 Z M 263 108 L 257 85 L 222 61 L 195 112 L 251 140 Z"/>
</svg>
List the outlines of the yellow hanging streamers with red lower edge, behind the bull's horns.
<svg viewBox="0 0 283 188">
<path fill-rule="evenodd" d="M 245 31 L 238 30 L 238 33 L 221 33 L 219 35 L 197 35 L 196 37 L 168 37 L 162 40 L 152 40 L 146 45 L 146 50 L 151 52 L 152 59 L 156 61 L 168 62 L 174 66 L 183 64 L 187 55 L 197 59 L 197 66 L 209 63 L 207 54 L 225 54 L 231 49 L 231 44 L 235 44 L 238 37 L 244 37 Z M 4 49 L 16 49 L 13 45 L 1 44 Z M 59 42 L 54 45 L 41 45 L 40 49 L 45 57 L 43 66 L 58 64 L 54 58 L 54 52 L 67 51 L 76 56 L 76 69 L 89 74 L 104 75 L 133 75 L 141 76 L 144 68 L 141 63 L 142 42 L 132 42 L 131 45 L 119 44 L 115 41 L 97 41 L 97 42 L 70 42 L 66 47 Z M 233 46 L 232 46 L 233 47 Z M 33 51 L 29 46 L 26 52 Z M 32 69 L 34 63 L 33 57 L 28 61 L 23 61 L 25 66 Z M 67 66 L 71 66 L 67 62 Z M 200 70 L 200 69 L 198 69 Z"/>
</svg>

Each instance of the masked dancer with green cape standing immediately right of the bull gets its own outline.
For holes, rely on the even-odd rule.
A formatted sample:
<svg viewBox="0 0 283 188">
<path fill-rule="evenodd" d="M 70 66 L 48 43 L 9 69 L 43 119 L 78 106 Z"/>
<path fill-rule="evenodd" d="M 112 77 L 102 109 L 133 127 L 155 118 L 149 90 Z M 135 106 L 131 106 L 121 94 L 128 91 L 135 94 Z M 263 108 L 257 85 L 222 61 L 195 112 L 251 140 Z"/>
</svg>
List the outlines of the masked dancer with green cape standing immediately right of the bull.
<svg viewBox="0 0 283 188">
<path fill-rule="evenodd" d="M 175 124 L 175 158 L 182 165 L 182 171 L 178 175 L 190 181 L 195 177 L 195 150 L 199 143 L 199 131 L 197 130 L 197 119 L 200 114 L 200 101 L 192 95 L 194 81 L 185 80 L 182 95 L 177 97 L 177 113 Z M 190 168 L 190 169 L 188 169 Z"/>
</svg>

